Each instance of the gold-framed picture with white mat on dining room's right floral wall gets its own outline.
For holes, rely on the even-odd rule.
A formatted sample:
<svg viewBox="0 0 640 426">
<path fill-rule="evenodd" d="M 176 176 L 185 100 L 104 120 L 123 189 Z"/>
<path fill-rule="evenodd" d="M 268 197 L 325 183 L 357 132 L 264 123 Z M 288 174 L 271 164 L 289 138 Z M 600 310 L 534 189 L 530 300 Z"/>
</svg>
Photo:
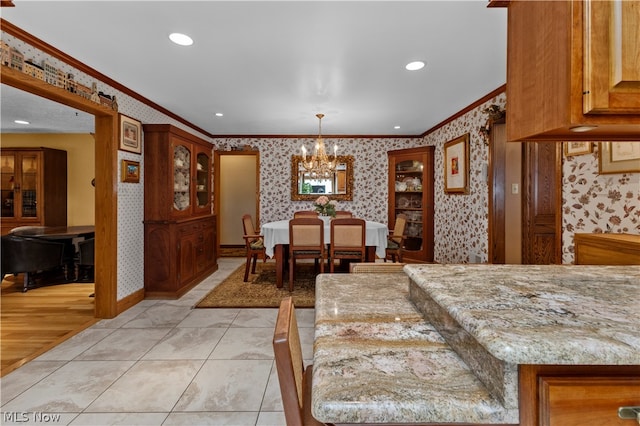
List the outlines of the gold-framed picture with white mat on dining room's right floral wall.
<svg viewBox="0 0 640 426">
<path fill-rule="evenodd" d="M 444 192 L 469 193 L 469 133 L 444 144 Z"/>
</svg>

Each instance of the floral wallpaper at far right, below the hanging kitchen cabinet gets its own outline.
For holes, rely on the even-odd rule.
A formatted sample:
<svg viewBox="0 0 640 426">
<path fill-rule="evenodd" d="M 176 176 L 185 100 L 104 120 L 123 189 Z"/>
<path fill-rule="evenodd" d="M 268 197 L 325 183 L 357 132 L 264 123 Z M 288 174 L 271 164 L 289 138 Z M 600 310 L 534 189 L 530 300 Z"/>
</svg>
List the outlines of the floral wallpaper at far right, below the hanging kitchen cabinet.
<svg viewBox="0 0 640 426">
<path fill-rule="evenodd" d="M 640 173 L 598 174 L 598 144 L 562 165 L 562 263 L 574 262 L 573 234 L 640 235 Z"/>
</svg>

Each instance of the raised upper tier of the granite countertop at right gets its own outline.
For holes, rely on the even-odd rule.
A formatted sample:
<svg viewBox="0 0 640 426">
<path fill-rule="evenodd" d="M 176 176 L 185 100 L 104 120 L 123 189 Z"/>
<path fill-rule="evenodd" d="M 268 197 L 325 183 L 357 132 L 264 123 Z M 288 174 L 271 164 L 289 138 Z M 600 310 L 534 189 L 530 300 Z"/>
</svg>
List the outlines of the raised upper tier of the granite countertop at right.
<svg viewBox="0 0 640 426">
<path fill-rule="evenodd" d="M 407 265 L 411 280 L 510 364 L 640 364 L 640 266 Z"/>
</svg>

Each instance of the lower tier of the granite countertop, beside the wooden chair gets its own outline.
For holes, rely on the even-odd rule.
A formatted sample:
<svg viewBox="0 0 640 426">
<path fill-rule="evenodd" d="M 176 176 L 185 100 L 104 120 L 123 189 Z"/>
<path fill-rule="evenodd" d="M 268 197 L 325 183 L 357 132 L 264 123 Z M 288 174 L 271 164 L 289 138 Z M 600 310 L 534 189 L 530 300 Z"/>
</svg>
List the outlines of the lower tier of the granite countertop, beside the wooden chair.
<svg viewBox="0 0 640 426">
<path fill-rule="evenodd" d="M 328 423 L 518 423 L 409 300 L 405 274 L 316 282 L 312 413 Z"/>
</svg>

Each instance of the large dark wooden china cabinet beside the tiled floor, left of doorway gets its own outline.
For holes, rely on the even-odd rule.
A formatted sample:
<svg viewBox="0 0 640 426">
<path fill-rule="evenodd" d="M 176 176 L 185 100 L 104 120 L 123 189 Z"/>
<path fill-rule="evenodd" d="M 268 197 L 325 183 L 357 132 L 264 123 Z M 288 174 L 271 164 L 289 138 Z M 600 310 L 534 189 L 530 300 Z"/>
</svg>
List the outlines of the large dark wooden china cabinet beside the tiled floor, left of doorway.
<svg viewBox="0 0 640 426">
<path fill-rule="evenodd" d="M 144 287 L 178 298 L 218 269 L 212 146 L 168 124 L 144 128 Z"/>
</svg>

